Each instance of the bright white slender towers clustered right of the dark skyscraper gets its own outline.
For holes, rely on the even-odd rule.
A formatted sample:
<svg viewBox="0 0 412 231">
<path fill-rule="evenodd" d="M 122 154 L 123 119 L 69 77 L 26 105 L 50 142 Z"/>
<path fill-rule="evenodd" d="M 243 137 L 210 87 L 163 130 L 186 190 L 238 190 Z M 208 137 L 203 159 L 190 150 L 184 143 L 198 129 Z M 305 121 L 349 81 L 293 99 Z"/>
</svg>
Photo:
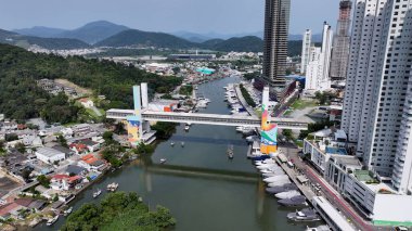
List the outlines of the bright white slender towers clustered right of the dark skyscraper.
<svg viewBox="0 0 412 231">
<path fill-rule="evenodd" d="M 331 88 L 330 66 L 333 31 L 327 23 L 323 25 L 322 48 L 311 47 L 306 72 L 305 90 L 324 91 Z"/>
</svg>

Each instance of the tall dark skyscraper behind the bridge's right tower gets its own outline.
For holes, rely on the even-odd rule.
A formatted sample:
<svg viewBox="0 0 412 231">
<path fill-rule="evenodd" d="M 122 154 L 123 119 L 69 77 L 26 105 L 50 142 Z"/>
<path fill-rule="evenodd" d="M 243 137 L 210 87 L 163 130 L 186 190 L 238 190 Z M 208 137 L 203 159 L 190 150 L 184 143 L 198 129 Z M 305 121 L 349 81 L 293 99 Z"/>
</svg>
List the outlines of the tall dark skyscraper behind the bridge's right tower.
<svg viewBox="0 0 412 231">
<path fill-rule="evenodd" d="M 291 0 L 266 0 L 262 77 L 271 87 L 285 88 Z"/>
</svg>

